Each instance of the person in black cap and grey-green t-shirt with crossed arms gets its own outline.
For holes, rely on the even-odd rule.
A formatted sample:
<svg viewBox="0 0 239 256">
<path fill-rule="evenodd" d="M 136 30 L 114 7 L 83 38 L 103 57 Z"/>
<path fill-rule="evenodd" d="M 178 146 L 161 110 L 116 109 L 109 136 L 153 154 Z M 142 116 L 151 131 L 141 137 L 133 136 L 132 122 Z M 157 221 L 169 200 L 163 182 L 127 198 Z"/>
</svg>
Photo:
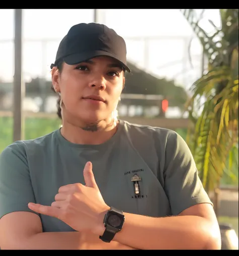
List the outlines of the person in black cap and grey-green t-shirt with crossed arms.
<svg viewBox="0 0 239 256">
<path fill-rule="evenodd" d="M 2 249 L 220 249 L 185 141 L 115 116 L 125 40 L 77 24 L 51 68 L 63 125 L 0 156 Z"/>
</svg>

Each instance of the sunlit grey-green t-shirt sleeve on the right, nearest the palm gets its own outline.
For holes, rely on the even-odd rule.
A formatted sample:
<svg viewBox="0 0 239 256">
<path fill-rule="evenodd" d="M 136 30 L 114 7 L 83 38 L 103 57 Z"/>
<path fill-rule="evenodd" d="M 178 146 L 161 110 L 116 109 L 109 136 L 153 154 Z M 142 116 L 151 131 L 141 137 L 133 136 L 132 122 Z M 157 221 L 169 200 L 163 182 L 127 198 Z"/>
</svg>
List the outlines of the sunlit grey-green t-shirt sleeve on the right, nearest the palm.
<svg viewBox="0 0 239 256">
<path fill-rule="evenodd" d="M 178 215 L 198 203 L 212 204 L 187 143 L 175 132 L 166 138 L 164 182 L 172 215 Z"/>
</svg>

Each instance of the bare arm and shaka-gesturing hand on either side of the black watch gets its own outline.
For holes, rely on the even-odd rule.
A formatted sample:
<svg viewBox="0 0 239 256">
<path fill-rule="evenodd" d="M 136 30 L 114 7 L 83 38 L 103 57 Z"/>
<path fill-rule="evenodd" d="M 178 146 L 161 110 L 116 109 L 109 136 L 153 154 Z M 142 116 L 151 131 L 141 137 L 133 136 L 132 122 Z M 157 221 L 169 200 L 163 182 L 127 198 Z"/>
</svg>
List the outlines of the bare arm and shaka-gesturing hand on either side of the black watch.
<svg viewBox="0 0 239 256">
<path fill-rule="evenodd" d="M 84 168 L 86 185 L 59 188 L 51 206 L 29 204 L 40 214 L 64 221 L 79 232 L 102 235 L 103 217 L 109 210 L 94 179 L 92 163 Z M 220 232 L 212 205 L 191 206 L 180 216 L 152 218 L 125 213 L 126 222 L 114 241 L 138 249 L 220 249 Z M 137 234 L 135 236 L 134 234 Z"/>
</svg>

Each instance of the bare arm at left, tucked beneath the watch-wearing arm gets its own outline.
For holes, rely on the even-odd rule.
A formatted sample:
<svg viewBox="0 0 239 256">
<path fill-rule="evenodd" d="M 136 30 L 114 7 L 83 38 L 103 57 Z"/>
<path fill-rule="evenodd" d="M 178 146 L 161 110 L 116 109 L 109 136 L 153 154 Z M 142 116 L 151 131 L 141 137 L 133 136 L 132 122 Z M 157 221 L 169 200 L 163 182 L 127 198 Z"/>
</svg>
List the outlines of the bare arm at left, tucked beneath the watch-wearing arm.
<svg viewBox="0 0 239 256">
<path fill-rule="evenodd" d="M 1 249 L 130 249 L 118 242 L 104 243 L 87 232 L 42 232 L 38 215 L 16 211 L 0 220 Z"/>
</svg>

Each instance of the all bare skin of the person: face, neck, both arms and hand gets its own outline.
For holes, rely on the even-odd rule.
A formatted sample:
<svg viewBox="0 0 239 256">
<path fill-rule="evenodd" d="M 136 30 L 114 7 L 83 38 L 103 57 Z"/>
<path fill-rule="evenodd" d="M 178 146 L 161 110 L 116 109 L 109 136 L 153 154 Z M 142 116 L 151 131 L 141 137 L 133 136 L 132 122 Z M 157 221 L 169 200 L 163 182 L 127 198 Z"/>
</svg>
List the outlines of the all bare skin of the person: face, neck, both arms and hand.
<svg viewBox="0 0 239 256">
<path fill-rule="evenodd" d="M 101 144 L 117 130 L 113 118 L 125 76 L 119 63 L 97 57 L 79 65 L 52 69 L 54 90 L 62 97 L 62 135 L 72 143 Z M 100 96 L 104 102 L 86 100 Z M 220 249 L 220 231 L 212 205 L 194 205 L 179 216 L 152 218 L 124 212 L 126 221 L 110 243 L 104 232 L 104 202 L 93 167 L 84 168 L 85 184 L 59 188 L 52 205 L 29 202 L 29 208 L 58 218 L 78 232 L 42 232 L 40 218 L 32 212 L 11 212 L 0 220 L 2 249 Z M 97 170 L 94 170 L 97 172 Z M 137 234 L 137 236 L 135 235 Z"/>
</svg>

